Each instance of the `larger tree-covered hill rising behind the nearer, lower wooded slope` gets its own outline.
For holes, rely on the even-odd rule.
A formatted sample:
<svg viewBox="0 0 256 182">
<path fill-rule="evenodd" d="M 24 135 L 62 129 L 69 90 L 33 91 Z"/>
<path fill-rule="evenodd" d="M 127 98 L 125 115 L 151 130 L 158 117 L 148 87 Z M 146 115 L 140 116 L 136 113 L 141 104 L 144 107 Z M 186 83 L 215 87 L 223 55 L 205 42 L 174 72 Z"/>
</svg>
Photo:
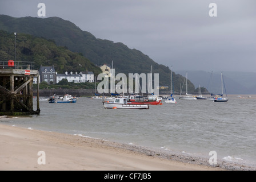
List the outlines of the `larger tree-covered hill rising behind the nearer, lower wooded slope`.
<svg viewBox="0 0 256 182">
<path fill-rule="evenodd" d="M 123 43 L 97 39 L 90 32 L 82 31 L 74 23 L 58 17 L 13 18 L 0 15 L 0 30 L 53 40 L 57 46 L 65 46 L 71 51 L 81 53 L 96 65 L 111 64 L 113 60 L 115 73 L 150 73 L 152 65 L 153 74 L 159 73 L 159 85 L 170 86 L 171 71 L 165 65 L 155 63 L 149 56 L 137 49 L 130 49 Z M 174 90 L 180 89 L 183 80 L 183 76 L 173 72 Z M 188 85 L 189 90 L 195 89 L 189 80 Z"/>
</svg>

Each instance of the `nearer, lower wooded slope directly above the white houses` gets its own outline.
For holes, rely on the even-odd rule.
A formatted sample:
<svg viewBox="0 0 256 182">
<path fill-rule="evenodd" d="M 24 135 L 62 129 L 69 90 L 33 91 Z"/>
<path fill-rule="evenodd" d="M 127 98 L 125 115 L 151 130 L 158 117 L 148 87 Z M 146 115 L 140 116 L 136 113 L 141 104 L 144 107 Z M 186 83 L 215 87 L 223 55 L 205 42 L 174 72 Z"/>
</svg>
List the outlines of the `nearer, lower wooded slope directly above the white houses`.
<svg viewBox="0 0 256 182">
<path fill-rule="evenodd" d="M 66 47 L 56 46 L 45 38 L 32 35 L 18 34 L 16 60 L 35 63 L 35 69 L 40 65 L 51 66 L 59 73 L 93 71 L 101 73 L 101 69 L 79 53 L 71 52 Z M 14 34 L 0 30 L 0 61 L 14 60 Z"/>
</svg>

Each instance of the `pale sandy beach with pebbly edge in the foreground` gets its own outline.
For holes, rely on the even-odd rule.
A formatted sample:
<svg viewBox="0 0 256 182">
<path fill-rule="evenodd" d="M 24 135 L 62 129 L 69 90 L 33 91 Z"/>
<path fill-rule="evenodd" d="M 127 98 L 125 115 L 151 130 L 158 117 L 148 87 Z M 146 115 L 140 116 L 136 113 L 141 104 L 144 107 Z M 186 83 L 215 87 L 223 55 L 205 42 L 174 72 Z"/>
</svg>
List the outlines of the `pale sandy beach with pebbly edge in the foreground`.
<svg viewBox="0 0 256 182">
<path fill-rule="evenodd" d="M 1 124 L 0 137 L 0 169 L 2 171 L 217 171 L 229 169 L 221 165 L 207 165 L 207 162 L 201 159 L 162 154 L 143 147 L 17 126 Z"/>
</svg>

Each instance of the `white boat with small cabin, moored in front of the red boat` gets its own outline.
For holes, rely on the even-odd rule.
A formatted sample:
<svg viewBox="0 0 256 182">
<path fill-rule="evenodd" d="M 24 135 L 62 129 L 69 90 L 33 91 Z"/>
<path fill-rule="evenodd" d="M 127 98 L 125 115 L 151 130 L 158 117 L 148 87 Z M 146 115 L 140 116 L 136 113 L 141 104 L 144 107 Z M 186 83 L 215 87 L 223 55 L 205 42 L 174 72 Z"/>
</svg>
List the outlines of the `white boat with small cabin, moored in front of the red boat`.
<svg viewBox="0 0 256 182">
<path fill-rule="evenodd" d="M 129 104 L 129 98 L 120 97 L 115 98 L 114 102 L 103 101 L 106 109 L 149 109 L 148 104 Z"/>
</svg>

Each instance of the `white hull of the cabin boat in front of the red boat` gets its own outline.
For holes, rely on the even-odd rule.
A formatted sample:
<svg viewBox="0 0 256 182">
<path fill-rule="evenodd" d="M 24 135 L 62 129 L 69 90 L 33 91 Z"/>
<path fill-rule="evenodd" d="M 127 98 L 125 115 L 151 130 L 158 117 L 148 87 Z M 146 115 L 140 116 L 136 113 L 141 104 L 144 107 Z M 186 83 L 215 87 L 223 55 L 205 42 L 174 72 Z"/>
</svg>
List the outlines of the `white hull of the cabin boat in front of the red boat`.
<svg viewBox="0 0 256 182">
<path fill-rule="evenodd" d="M 117 104 L 111 102 L 103 102 L 106 109 L 149 109 L 148 104 Z"/>
</svg>

